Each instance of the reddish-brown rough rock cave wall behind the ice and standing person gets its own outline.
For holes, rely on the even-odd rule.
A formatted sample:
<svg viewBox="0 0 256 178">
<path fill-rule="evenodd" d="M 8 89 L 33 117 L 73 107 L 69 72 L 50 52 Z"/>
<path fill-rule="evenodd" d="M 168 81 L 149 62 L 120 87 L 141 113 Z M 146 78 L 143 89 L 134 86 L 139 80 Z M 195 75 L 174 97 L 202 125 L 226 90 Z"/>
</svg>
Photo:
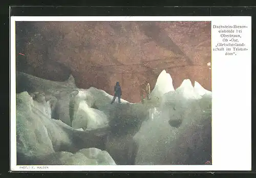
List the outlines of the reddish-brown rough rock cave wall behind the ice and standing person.
<svg viewBox="0 0 256 178">
<path fill-rule="evenodd" d="M 139 84 L 154 87 L 162 70 L 175 88 L 189 78 L 211 90 L 207 21 L 18 22 L 16 54 L 18 71 L 57 81 L 72 73 L 79 88 L 113 94 L 119 81 L 130 102 L 139 102 Z"/>
</svg>

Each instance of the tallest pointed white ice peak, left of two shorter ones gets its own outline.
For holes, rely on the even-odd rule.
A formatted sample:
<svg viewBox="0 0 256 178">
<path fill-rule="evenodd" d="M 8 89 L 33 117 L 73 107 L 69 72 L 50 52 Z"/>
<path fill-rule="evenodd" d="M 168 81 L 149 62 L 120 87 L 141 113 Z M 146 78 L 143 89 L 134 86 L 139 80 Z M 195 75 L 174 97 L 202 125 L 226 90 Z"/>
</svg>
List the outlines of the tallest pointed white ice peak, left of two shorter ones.
<svg viewBox="0 0 256 178">
<path fill-rule="evenodd" d="M 173 79 L 170 74 L 163 70 L 157 78 L 156 85 L 152 91 L 152 96 L 160 98 L 170 91 L 174 91 Z"/>
</svg>

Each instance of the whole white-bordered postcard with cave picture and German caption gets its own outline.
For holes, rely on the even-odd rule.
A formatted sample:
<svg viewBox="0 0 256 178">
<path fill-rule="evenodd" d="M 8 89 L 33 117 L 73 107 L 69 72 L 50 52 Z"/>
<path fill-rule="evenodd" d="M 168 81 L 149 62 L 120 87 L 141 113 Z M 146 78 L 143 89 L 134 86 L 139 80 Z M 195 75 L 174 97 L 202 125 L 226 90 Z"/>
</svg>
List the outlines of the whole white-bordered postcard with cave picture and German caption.
<svg viewBox="0 0 256 178">
<path fill-rule="evenodd" d="M 250 16 L 11 16 L 11 171 L 251 169 Z"/>
</svg>

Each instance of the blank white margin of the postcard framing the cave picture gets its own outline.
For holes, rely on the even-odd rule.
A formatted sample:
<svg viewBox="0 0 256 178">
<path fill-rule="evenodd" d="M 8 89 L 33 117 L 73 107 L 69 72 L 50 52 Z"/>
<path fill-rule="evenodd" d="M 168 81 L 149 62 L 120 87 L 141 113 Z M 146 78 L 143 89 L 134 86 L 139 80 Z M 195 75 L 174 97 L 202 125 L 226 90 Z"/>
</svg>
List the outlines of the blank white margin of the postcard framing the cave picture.
<svg viewBox="0 0 256 178">
<path fill-rule="evenodd" d="M 236 65 L 232 65 L 230 71 L 228 71 L 230 65 L 227 62 L 221 63 L 217 60 L 220 56 L 212 53 L 212 165 L 47 166 L 42 169 L 37 166 L 27 166 L 27 169 L 23 169 L 16 166 L 15 131 L 15 21 L 211 21 L 211 24 L 243 21 L 246 22 L 244 25 L 248 26 L 248 35 L 251 36 L 250 16 L 11 16 L 10 21 L 12 171 L 251 170 L 251 47 L 248 48 L 247 58 L 242 56 L 240 63 L 235 62 Z M 215 38 L 215 34 L 211 33 L 211 35 Z M 246 40 L 248 44 L 251 44 L 251 38 Z M 231 74 L 229 77 L 232 77 L 230 78 L 232 82 L 225 81 L 227 78 L 223 76 L 227 73 Z M 236 79 L 242 78 L 246 78 L 246 81 L 243 81 L 243 86 L 239 87 L 240 81 Z M 231 85 L 227 86 L 226 83 Z M 223 105 L 223 103 L 229 104 Z M 229 134 L 225 135 L 226 133 Z M 244 150 L 246 148 L 247 150 Z"/>
</svg>

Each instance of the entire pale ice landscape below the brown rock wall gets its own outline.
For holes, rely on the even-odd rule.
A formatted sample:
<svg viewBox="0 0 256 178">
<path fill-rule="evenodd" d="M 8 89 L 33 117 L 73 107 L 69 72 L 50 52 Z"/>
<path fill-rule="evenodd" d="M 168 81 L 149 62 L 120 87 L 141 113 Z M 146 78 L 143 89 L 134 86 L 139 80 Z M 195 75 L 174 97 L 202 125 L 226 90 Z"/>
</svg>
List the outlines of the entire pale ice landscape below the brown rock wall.
<svg viewBox="0 0 256 178">
<path fill-rule="evenodd" d="M 211 92 L 186 79 L 174 90 L 166 71 L 152 99 L 110 104 L 108 93 L 17 75 L 18 164 L 204 164 L 211 159 Z M 31 93 L 56 98 L 38 103 Z"/>
</svg>

